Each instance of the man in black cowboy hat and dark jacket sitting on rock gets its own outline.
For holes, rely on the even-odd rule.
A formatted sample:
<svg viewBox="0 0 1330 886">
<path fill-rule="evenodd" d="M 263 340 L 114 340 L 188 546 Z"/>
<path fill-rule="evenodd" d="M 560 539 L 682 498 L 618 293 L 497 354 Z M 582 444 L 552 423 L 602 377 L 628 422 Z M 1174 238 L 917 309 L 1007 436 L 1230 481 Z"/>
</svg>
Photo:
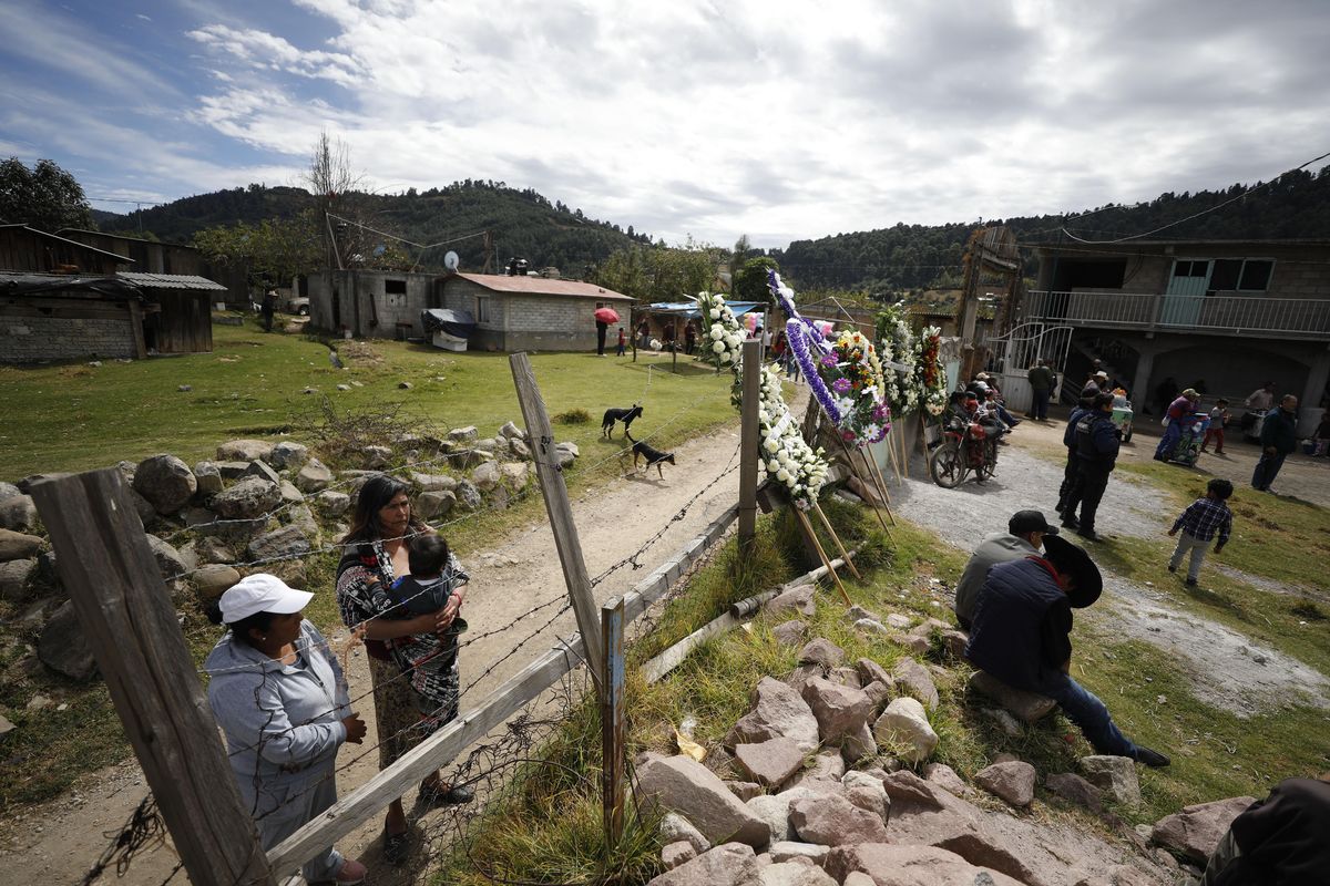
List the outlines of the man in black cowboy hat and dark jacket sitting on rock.
<svg viewBox="0 0 1330 886">
<path fill-rule="evenodd" d="M 979 590 L 966 658 L 1011 687 L 1057 701 L 1096 753 L 1166 766 L 1168 757 L 1133 744 L 1104 703 L 1071 677 L 1072 608 L 1091 606 L 1103 590 L 1104 579 L 1089 554 L 1045 535 L 1044 557 L 990 570 Z"/>
</svg>

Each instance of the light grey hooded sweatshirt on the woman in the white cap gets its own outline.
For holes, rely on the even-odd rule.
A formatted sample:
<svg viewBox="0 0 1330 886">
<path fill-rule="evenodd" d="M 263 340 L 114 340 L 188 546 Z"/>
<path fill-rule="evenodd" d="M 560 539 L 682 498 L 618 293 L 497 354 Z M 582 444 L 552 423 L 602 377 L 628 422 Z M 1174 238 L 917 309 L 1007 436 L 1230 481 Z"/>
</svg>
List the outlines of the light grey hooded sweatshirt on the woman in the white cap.
<svg viewBox="0 0 1330 886">
<path fill-rule="evenodd" d="M 351 715 L 342 665 L 310 622 L 301 622 L 301 659 L 275 662 L 227 632 L 203 662 L 207 701 L 226 733 L 231 770 L 250 814 L 283 818 L 289 805 L 332 772 Z"/>
</svg>

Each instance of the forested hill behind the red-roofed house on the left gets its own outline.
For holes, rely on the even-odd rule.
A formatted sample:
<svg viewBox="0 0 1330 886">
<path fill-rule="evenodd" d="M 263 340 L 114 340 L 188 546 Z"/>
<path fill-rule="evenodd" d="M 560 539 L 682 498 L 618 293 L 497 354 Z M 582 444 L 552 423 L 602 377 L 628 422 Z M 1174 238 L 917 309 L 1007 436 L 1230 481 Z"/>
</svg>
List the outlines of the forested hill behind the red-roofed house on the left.
<svg viewBox="0 0 1330 886">
<path fill-rule="evenodd" d="M 632 227 L 622 231 L 617 224 L 584 217 L 580 209 L 551 203 L 531 189 L 517 190 L 501 182 L 468 179 L 422 193 L 412 189 L 398 195 L 348 194 L 343 202 L 346 217 L 415 243 L 432 244 L 489 230 L 500 264 L 516 256 L 527 259 L 532 268 L 555 266 L 572 275 L 580 275 L 587 264 L 614 250 L 634 242 L 650 243 L 648 235 Z M 314 206 L 314 198 L 299 187 L 250 185 L 145 210 L 141 227 L 158 239 L 189 243 L 203 228 L 294 218 Z M 137 214 L 98 213 L 96 218 L 104 231 L 134 235 L 140 230 Z M 439 267 L 444 252 L 455 250 L 464 268 L 479 268 L 484 263 L 483 246 L 479 236 L 450 243 L 427 254 L 424 263 Z M 415 258 L 414 250 L 407 251 Z"/>
</svg>

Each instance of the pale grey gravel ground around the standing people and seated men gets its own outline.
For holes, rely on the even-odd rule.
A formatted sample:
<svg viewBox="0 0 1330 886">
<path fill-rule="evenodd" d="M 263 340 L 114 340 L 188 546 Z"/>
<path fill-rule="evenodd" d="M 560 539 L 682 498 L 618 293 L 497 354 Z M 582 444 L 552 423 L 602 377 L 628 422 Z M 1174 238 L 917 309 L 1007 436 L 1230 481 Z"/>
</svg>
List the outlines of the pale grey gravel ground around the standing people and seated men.
<svg viewBox="0 0 1330 886">
<path fill-rule="evenodd" d="M 1053 517 L 1063 466 L 1056 460 L 1063 422 L 1024 422 L 998 458 L 998 473 L 984 484 L 970 476 L 956 489 L 928 480 L 923 460 L 910 466 L 910 478 L 891 486 L 891 505 L 906 519 L 927 526 L 944 541 L 971 550 L 988 533 L 1000 531 L 1017 510 L 1033 507 Z M 1132 446 L 1141 457 L 1148 440 Z M 1039 454 L 1033 454 L 1039 453 Z M 1144 453 L 1149 457 L 1149 452 Z M 1302 494 L 1302 493 L 1299 493 Z M 1317 487 L 1309 495 L 1318 498 Z M 1115 473 L 1100 505 L 1097 531 L 1112 537 L 1160 535 L 1174 514 L 1161 493 L 1145 480 Z M 1072 535 L 1072 541 L 1080 541 Z M 1093 553 L 1095 546 L 1087 547 Z M 1162 576 L 1172 579 L 1160 565 Z M 1105 569 L 1104 596 L 1087 611 L 1091 623 L 1145 640 L 1186 663 L 1198 697 L 1240 716 L 1310 701 L 1330 709 L 1330 679 L 1275 650 L 1206 618 L 1177 608 L 1148 584 L 1129 582 Z"/>
</svg>

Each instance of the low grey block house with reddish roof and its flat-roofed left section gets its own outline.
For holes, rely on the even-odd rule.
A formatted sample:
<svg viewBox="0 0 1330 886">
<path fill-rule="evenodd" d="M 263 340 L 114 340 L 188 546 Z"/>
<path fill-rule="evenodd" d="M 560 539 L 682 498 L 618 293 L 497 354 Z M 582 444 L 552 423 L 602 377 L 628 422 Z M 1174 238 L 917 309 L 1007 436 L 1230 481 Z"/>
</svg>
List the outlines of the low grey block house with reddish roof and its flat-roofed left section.
<svg viewBox="0 0 1330 886">
<path fill-rule="evenodd" d="M 476 320 L 472 351 L 591 349 L 596 308 L 614 308 L 626 329 L 633 304 L 593 283 L 493 274 L 325 271 L 309 287 L 311 323 L 355 337 L 418 339 L 422 311 L 466 311 Z M 609 340 L 616 335 L 610 329 Z"/>
</svg>

